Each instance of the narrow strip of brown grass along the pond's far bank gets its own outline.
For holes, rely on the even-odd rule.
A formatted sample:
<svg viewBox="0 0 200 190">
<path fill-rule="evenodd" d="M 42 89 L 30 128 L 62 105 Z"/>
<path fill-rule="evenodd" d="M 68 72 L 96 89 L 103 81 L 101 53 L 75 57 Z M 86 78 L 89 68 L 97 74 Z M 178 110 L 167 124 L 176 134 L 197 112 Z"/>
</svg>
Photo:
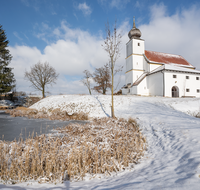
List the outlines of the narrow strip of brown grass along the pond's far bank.
<svg viewBox="0 0 200 190">
<path fill-rule="evenodd" d="M 38 111 L 36 109 L 19 107 L 13 110 L 6 110 L 12 117 L 28 117 L 34 119 L 50 119 L 50 120 L 88 120 L 88 114 L 80 112 L 68 114 L 66 111 L 61 111 L 59 108 L 49 110 L 47 113 L 45 110 Z"/>
</svg>

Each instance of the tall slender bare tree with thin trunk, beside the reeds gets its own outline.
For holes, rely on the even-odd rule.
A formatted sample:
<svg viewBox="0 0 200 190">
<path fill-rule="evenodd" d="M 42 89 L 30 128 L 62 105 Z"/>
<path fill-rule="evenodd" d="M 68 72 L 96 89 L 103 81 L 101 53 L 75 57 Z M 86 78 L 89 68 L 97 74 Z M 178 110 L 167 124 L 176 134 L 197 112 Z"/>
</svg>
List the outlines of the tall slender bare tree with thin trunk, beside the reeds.
<svg viewBox="0 0 200 190">
<path fill-rule="evenodd" d="M 102 45 L 104 50 L 108 53 L 110 64 L 111 64 L 111 77 L 112 77 L 112 87 L 111 87 L 111 96 L 112 96 L 112 117 L 115 117 L 114 114 L 114 100 L 113 100 L 113 88 L 114 88 L 114 67 L 116 60 L 120 56 L 120 45 L 122 35 L 118 33 L 117 22 L 115 21 L 115 25 L 113 30 L 110 29 L 109 22 L 106 24 L 106 38 L 104 40 L 104 44 Z"/>
</svg>

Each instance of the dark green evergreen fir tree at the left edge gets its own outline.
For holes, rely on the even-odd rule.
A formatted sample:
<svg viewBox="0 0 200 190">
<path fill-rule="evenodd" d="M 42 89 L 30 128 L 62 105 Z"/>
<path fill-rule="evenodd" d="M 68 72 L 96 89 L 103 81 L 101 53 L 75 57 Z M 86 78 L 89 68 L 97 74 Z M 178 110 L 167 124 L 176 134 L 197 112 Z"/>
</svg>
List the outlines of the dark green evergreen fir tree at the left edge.
<svg viewBox="0 0 200 190">
<path fill-rule="evenodd" d="M 12 56 L 7 49 L 9 41 L 0 25 L 0 94 L 9 92 L 15 87 L 15 78 L 12 68 L 8 67 Z"/>
</svg>

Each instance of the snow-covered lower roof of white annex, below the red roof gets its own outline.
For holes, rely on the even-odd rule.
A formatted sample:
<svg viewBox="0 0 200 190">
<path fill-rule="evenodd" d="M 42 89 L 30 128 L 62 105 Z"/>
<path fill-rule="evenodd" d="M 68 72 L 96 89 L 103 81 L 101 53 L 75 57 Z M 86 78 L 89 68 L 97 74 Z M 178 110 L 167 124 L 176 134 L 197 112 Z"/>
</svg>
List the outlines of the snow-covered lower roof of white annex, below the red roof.
<svg viewBox="0 0 200 190">
<path fill-rule="evenodd" d="M 162 70 L 171 70 L 171 71 L 200 74 L 200 71 L 198 71 L 198 70 L 188 69 L 188 68 L 184 68 L 184 67 L 178 67 L 178 66 L 174 66 L 173 64 L 162 65 L 162 66 L 154 69 L 153 71 L 151 71 L 149 74 L 153 74 L 153 73 L 156 73 L 156 72 L 159 72 Z"/>
</svg>

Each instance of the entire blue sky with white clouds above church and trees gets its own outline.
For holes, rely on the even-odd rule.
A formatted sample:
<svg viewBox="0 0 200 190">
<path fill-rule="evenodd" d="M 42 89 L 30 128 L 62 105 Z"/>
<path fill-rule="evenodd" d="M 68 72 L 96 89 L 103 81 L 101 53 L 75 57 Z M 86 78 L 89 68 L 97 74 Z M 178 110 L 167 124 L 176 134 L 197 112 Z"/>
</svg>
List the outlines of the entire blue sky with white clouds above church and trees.
<svg viewBox="0 0 200 190">
<path fill-rule="evenodd" d="M 88 94 L 80 82 L 85 69 L 108 63 L 103 50 L 105 24 L 117 20 L 122 34 L 116 76 L 125 84 L 125 46 L 136 18 L 147 50 L 178 54 L 200 70 L 200 2 L 198 0 L 0 0 L 0 24 L 6 31 L 10 66 L 17 91 L 41 94 L 24 80 L 25 70 L 49 62 L 59 73 L 50 94 Z M 94 84 L 93 84 L 94 85 Z"/>
</svg>

